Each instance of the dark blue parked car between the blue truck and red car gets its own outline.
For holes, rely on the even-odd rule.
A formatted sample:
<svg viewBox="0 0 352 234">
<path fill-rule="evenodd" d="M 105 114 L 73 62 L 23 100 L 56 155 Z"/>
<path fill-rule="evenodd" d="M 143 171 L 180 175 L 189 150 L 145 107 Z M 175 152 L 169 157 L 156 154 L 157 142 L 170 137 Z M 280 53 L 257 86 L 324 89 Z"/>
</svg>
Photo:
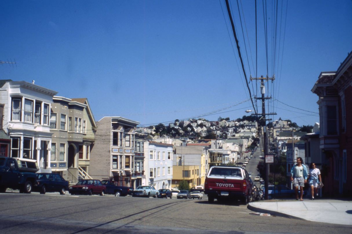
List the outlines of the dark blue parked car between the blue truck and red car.
<svg viewBox="0 0 352 234">
<path fill-rule="evenodd" d="M 68 181 L 56 173 L 37 173 L 36 183 L 33 191 L 45 194 L 46 192 L 59 192 L 65 195 L 68 190 Z"/>
</svg>

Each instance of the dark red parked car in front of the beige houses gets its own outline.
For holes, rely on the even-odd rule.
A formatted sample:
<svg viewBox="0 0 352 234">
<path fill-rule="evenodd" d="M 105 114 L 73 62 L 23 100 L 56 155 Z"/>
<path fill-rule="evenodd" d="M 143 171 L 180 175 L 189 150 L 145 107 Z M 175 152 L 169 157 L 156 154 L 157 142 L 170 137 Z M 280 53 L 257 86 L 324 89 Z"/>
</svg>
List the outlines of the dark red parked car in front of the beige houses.
<svg viewBox="0 0 352 234">
<path fill-rule="evenodd" d="M 105 191 L 106 187 L 101 183 L 100 180 L 80 180 L 76 185 L 69 187 L 69 192 L 71 195 L 100 194 L 101 196 L 104 196 Z"/>
</svg>

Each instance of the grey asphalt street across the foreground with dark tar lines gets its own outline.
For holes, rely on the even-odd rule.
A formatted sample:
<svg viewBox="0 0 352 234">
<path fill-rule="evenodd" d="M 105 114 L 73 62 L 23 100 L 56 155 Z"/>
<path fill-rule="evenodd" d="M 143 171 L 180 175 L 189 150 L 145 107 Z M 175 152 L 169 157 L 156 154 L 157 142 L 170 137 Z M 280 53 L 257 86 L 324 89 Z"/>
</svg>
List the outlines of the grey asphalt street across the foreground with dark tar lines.
<svg viewBox="0 0 352 234">
<path fill-rule="evenodd" d="M 351 226 L 253 215 L 237 202 L 0 194 L 3 233 L 351 233 Z"/>
</svg>

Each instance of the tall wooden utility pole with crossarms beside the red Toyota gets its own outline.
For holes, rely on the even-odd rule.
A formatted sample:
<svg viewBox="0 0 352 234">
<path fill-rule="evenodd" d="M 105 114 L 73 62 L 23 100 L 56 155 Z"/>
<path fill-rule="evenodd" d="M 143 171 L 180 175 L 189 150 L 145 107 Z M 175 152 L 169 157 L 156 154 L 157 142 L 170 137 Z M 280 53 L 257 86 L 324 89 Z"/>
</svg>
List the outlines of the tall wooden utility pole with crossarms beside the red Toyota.
<svg viewBox="0 0 352 234">
<path fill-rule="evenodd" d="M 263 129 L 263 141 L 264 141 L 264 165 L 265 165 L 265 183 L 264 183 L 264 188 L 265 188 L 265 194 L 264 194 L 264 198 L 265 199 L 269 199 L 269 163 L 266 162 L 266 155 L 268 155 L 268 139 L 267 139 L 267 134 L 266 134 L 266 120 L 271 120 L 271 119 L 266 119 L 266 115 L 276 115 L 276 113 L 269 113 L 266 114 L 265 113 L 265 100 L 266 99 L 271 99 L 271 97 L 269 98 L 265 98 L 265 85 L 264 85 L 264 80 L 268 81 L 268 80 L 275 80 L 275 76 L 269 78 L 268 76 L 266 76 L 266 78 L 264 78 L 263 76 L 260 76 L 260 78 L 250 78 L 250 80 L 260 80 L 260 92 L 262 93 L 262 97 L 261 98 L 256 98 L 257 100 L 261 100 L 262 101 L 262 114 L 257 114 L 260 115 L 260 126 L 262 126 Z M 255 114 L 254 114 L 255 115 Z"/>
</svg>

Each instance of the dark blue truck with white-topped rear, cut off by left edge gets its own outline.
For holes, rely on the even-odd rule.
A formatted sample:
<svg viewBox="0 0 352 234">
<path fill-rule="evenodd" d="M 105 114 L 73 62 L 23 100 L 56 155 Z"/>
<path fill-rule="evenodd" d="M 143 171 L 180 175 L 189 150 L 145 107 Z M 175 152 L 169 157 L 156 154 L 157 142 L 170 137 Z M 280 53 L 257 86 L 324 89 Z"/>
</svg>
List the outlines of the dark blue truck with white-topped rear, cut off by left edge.
<svg viewBox="0 0 352 234">
<path fill-rule="evenodd" d="M 0 157 L 0 193 L 5 193 L 7 188 L 31 193 L 38 170 L 36 160 Z"/>
</svg>

